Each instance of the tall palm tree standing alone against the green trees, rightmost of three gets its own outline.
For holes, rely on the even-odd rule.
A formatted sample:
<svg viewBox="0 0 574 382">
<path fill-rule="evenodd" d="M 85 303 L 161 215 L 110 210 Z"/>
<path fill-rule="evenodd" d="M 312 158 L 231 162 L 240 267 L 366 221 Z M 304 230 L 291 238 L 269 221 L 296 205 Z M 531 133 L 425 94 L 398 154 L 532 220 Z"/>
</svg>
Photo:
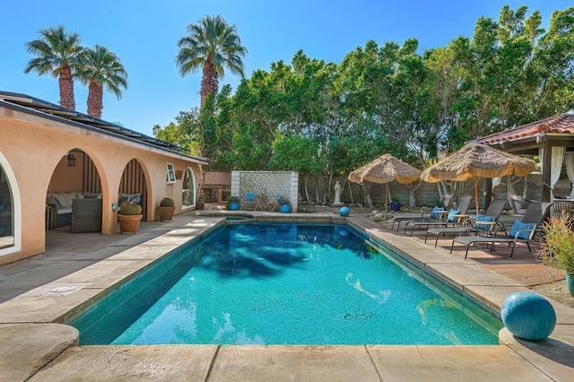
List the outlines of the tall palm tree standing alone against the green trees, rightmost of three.
<svg viewBox="0 0 574 382">
<path fill-rule="evenodd" d="M 201 106 L 208 94 L 217 94 L 223 66 L 231 73 L 243 73 L 241 59 L 248 49 L 241 46 L 235 25 L 230 26 L 222 16 L 205 16 L 196 24 L 187 26 L 187 36 L 178 41 L 176 65 L 182 76 L 203 70 L 201 79 Z"/>
</svg>

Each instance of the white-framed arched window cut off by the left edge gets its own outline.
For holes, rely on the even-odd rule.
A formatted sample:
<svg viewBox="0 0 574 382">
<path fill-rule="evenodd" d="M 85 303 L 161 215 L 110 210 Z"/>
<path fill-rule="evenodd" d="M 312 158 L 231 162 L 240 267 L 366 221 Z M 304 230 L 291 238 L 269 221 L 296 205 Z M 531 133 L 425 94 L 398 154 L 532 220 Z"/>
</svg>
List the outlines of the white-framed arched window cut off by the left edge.
<svg viewBox="0 0 574 382">
<path fill-rule="evenodd" d="M 12 169 L 0 153 L 0 256 L 20 250 L 22 219 L 17 191 Z"/>
</svg>

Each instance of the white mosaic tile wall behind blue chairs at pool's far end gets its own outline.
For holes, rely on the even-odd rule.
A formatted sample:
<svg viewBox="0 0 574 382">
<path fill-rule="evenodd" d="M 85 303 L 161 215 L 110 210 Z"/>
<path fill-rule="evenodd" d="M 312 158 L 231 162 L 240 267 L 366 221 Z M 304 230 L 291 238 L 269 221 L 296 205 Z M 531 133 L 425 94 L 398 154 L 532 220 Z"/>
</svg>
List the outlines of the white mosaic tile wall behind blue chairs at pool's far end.
<svg viewBox="0 0 574 382">
<path fill-rule="evenodd" d="M 291 171 L 232 171 L 231 195 L 243 198 L 246 193 L 266 195 L 268 200 L 279 194 L 289 198 L 291 211 L 297 212 L 299 174 Z"/>
</svg>

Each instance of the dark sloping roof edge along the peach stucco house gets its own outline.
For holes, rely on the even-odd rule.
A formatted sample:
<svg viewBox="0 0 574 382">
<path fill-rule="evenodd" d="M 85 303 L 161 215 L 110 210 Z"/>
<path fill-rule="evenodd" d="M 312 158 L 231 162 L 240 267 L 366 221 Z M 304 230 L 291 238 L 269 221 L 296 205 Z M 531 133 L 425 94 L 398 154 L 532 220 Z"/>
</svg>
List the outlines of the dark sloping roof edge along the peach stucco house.
<svg viewBox="0 0 574 382">
<path fill-rule="evenodd" d="M 119 135 L 122 139 L 140 142 L 147 146 L 159 148 L 162 151 L 177 153 L 201 164 L 207 164 L 209 162 L 207 158 L 182 154 L 182 149 L 176 144 L 161 141 L 153 138 L 152 136 L 143 135 L 136 131 L 126 129 L 123 126 L 118 126 L 102 119 L 90 117 L 75 110 L 65 109 L 56 104 L 45 100 L 39 100 L 25 94 L 0 91 L 0 106 L 10 109 L 19 109 L 27 113 L 43 115 L 43 117 L 48 117 L 49 119 L 64 119 L 67 123 L 74 126 L 92 131 L 96 130 L 106 135 Z"/>
</svg>

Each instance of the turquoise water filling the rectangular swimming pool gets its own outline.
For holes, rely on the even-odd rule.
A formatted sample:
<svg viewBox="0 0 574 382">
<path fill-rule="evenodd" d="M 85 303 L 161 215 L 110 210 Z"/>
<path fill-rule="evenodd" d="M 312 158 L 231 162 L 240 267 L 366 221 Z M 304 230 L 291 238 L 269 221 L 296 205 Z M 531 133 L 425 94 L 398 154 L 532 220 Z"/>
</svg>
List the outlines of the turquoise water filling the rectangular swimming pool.
<svg viewBox="0 0 574 382">
<path fill-rule="evenodd" d="M 502 326 L 347 227 L 241 222 L 69 324 L 82 344 L 493 344 Z"/>
</svg>

